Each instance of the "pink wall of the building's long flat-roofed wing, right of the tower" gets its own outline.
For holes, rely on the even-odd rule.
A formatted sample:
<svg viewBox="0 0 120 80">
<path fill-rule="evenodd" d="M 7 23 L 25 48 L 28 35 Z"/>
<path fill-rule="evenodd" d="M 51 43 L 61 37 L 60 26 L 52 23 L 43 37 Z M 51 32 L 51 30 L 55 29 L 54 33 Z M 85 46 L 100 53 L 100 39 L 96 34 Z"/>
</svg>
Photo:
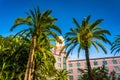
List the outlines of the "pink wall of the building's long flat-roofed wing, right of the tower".
<svg viewBox="0 0 120 80">
<path fill-rule="evenodd" d="M 117 63 L 113 63 L 113 60 L 116 61 Z M 95 61 L 98 63 L 98 65 L 94 65 Z M 91 67 L 94 68 L 94 67 L 102 66 L 102 65 L 104 65 L 103 61 L 107 62 L 105 67 L 109 70 L 109 73 L 114 70 L 116 72 L 116 74 L 120 75 L 120 57 L 119 56 L 118 57 L 105 57 L 105 58 L 91 59 L 90 60 Z M 80 67 L 77 67 L 77 63 L 80 63 Z M 67 70 L 68 71 L 73 70 L 73 72 L 69 74 L 70 76 L 73 76 L 73 80 L 78 80 L 78 76 L 81 74 L 78 71 L 78 68 L 80 68 L 80 69 L 87 68 L 85 60 L 70 60 L 67 65 L 69 65 L 69 64 L 72 64 L 72 67 L 68 66 Z"/>
</svg>

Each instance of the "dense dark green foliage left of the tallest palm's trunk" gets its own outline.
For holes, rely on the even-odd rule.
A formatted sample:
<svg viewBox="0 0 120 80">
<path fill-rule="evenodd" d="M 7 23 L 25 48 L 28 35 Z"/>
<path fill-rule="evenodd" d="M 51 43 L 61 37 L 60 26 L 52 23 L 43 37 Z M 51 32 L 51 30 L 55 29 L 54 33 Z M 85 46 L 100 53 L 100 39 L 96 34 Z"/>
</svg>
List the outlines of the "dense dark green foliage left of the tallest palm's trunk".
<svg viewBox="0 0 120 80">
<path fill-rule="evenodd" d="M 0 79 L 22 80 L 27 63 L 29 45 L 13 36 L 2 37 L 0 41 L 2 42 L 0 43 L 0 45 L 2 44 L 0 49 Z"/>
</svg>

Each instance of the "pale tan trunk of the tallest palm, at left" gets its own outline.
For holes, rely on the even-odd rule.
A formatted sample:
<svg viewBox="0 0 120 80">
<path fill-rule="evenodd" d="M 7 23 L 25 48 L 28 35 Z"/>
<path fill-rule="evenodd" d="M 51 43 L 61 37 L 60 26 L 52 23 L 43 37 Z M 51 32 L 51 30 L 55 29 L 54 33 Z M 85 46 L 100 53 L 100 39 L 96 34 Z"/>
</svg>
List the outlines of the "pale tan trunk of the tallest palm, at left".
<svg viewBox="0 0 120 80">
<path fill-rule="evenodd" d="M 29 55 L 28 62 L 27 62 L 27 68 L 26 68 L 24 80 L 32 80 L 33 79 L 35 46 L 36 46 L 36 36 L 33 36 L 32 45 L 30 47 L 30 55 Z"/>
</svg>

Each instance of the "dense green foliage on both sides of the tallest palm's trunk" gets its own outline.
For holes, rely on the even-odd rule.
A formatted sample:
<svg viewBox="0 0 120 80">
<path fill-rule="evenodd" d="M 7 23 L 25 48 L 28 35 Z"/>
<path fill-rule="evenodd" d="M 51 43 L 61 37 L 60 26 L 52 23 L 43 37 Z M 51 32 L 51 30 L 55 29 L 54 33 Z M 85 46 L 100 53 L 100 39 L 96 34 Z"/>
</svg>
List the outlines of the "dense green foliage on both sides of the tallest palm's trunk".
<svg viewBox="0 0 120 80">
<path fill-rule="evenodd" d="M 45 40 L 45 39 L 43 39 Z M 1 80 L 23 80 L 29 55 L 29 42 L 24 37 L 13 36 L 0 37 L 0 79 Z M 49 40 L 50 41 L 50 40 Z M 7 43 L 7 44 L 6 44 Z M 53 46 L 47 46 L 47 43 L 40 44 L 44 46 L 35 51 L 35 72 L 34 79 L 47 80 L 54 77 L 57 73 L 55 69 L 55 58 L 50 49 Z M 38 43 L 39 44 L 39 43 Z"/>
</svg>

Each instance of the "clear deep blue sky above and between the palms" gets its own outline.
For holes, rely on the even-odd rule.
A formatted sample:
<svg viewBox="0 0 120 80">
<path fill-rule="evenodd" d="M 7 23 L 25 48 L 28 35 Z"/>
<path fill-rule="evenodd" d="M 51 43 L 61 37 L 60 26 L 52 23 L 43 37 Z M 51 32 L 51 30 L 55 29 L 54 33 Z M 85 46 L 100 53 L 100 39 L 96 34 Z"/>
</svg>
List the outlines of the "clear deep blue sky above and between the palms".
<svg viewBox="0 0 120 80">
<path fill-rule="evenodd" d="M 37 5 L 40 6 L 41 12 L 52 10 L 51 15 L 58 19 L 56 24 L 61 28 L 62 35 L 71 27 L 75 27 L 72 18 L 76 18 L 81 23 L 82 19 L 88 15 L 91 15 L 91 21 L 104 19 L 100 26 L 111 32 L 112 36 L 108 36 L 111 41 L 113 41 L 114 35 L 120 34 L 120 0 L 0 0 L 0 35 L 15 34 L 23 28 L 17 28 L 13 32 L 9 31 L 16 18 L 26 17 L 25 12 Z M 113 56 L 109 50 L 110 46 L 105 46 L 108 49 L 107 55 L 104 55 L 102 51 L 97 54 L 94 49 L 90 49 L 92 52 L 90 57 Z M 76 59 L 76 56 L 75 51 L 72 58 Z M 80 58 L 84 58 L 84 53 L 81 53 Z"/>
</svg>

